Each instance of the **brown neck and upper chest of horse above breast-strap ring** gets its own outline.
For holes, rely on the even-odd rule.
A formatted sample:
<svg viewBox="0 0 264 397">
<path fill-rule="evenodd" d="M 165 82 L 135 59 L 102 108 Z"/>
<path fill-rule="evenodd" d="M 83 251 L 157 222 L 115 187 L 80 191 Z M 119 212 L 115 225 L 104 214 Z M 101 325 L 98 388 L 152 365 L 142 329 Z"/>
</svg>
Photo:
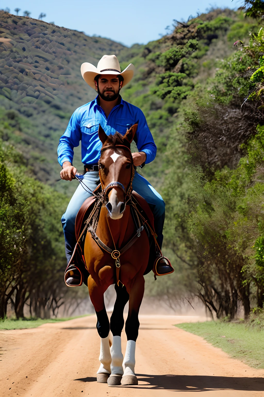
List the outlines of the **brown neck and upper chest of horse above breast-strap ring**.
<svg viewBox="0 0 264 397">
<path fill-rule="evenodd" d="M 122 247 L 123 243 L 126 243 L 127 239 L 131 237 L 133 231 L 134 224 L 129 206 L 126 206 L 122 218 L 115 220 L 110 218 L 105 206 L 101 208 L 97 235 L 108 247 L 114 248 L 114 244 L 116 249 Z"/>
</svg>

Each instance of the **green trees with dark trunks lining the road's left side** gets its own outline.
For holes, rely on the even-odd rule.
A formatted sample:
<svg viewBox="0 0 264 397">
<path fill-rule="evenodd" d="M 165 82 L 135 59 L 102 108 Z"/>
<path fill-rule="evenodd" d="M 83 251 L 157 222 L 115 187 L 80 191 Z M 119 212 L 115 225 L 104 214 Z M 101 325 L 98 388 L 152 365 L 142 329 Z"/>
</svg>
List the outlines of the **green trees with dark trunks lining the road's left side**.
<svg viewBox="0 0 264 397">
<path fill-rule="evenodd" d="M 20 156 L 21 157 L 21 156 Z M 63 297 L 65 198 L 28 176 L 12 146 L 0 146 L 0 318 L 11 302 L 36 316 L 57 314 Z"/>
</svg>

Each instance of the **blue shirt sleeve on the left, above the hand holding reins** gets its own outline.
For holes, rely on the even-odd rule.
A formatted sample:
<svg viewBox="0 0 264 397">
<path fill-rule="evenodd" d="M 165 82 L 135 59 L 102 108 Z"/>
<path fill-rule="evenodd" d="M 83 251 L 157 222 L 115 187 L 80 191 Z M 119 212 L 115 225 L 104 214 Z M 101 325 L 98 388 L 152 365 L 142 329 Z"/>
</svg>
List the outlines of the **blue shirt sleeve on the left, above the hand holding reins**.
<svg viewBox="0 0 264 397">
<path fill-rule="evenodd" d="M 79 146 L 81 139 L 80 121 L 78 115 L 78 109 L 75 110 L 74 114 L 70 118 L 68 127 L 65 133 L 62 135 L 58 146 L 58 162 L 62 166 L 65 161 L 72 163 L 74 148 Z"/>
</svg>

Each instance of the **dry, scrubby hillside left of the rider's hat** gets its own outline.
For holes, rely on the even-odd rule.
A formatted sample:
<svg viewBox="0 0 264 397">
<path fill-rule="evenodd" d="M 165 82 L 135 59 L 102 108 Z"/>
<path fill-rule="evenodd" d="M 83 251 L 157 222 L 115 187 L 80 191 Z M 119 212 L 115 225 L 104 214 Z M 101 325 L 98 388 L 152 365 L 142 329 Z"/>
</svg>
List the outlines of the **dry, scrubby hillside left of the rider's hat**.
<svg viewBox="0 0 264 397">
<path fill-rule="evenodd" d="M 82 62 L 124 47 L 101 37 L 0 11 L 0 106 L 15 130 L 4 131 L 22 150 L 38 179 L 54 184 L 56 147 L 72 112 L 94 98 L 80 74 Z M 3 112 L 2 112 L 3 113 Z"/>
</svg>

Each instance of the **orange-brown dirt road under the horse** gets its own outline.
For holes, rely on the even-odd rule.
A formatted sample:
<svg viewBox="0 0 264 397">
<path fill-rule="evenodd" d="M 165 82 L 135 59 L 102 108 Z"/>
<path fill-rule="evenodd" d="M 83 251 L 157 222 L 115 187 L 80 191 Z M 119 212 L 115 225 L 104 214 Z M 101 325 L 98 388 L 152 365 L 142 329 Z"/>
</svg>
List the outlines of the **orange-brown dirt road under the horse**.
<svg viewBox="0 0 264 397">
<path fill-rule="evenodd" d="M 203 320 L 140 316 L 138 386 L 96 382 L 100 341 L 95 316 L 31 330 L 0 331 L 0 395 L 188 397 L 198 391 L 206 392 L 206 397 L 264 396 L 264 370 L 229 358 L 202 338 L 173 326 L 199 319 Z M 122 343 L 124 353 L 124 332 Z"/>
</svg>

